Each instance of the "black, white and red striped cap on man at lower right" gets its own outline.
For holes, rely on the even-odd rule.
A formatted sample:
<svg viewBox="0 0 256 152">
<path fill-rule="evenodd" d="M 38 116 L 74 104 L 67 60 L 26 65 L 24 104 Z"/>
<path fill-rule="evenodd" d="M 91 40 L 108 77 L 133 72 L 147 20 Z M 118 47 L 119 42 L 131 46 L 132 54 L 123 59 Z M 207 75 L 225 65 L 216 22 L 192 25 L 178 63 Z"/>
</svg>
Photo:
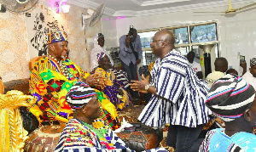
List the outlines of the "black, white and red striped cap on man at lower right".
<svg viewBox="0 0 256 152">
<path fill-rule="evenodd" d="M 207 94 L 207 107 L 224 121 L 243 115 L 253 103 L 255 91 L 239 76 L 226 75 L 215 82 Z"/>
</svg>

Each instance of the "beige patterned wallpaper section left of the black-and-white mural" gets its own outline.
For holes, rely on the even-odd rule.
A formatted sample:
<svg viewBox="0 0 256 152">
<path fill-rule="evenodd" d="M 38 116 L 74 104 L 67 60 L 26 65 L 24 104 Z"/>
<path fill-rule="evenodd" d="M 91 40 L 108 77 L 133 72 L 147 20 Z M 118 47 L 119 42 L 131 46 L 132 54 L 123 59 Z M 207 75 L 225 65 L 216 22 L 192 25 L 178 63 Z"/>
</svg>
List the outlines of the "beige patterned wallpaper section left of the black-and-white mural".
<svg viewBox="0 0 256 152">
<path fill-rule="evenodd" d="M 23 14 L 0 14 L 0 76 L 3 82 L 29 76 L 29 54 Z"/>
</svg>

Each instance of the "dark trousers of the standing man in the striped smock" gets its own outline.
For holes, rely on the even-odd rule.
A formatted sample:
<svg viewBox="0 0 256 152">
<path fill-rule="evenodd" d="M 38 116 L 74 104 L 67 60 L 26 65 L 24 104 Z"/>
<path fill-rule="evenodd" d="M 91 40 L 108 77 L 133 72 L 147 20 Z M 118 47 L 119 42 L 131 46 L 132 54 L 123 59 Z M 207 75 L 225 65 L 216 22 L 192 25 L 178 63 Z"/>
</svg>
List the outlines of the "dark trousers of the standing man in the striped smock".
<svg viewBox="0 0 256 152">
<path fill-rule="evenodd" d="M 197 127 L 170 125 L 166 144 L 176 152 L 197 152 L 203 141 L 203 138 L 198 138 L 203 127 L 204 124 Z"/>
</svg>

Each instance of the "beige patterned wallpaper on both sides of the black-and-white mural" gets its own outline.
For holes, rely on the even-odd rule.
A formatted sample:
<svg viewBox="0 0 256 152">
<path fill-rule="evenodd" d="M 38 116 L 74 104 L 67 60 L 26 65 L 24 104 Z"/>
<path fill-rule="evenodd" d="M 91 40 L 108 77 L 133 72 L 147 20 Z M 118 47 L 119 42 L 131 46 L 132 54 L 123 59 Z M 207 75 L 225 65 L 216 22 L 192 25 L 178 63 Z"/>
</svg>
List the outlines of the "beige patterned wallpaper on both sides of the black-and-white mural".
<svg viewBox="0 0 256 152">
<path fill-rule="evenodd" d="M 38 3 L 37 8 L 41 8 Z M 43 6 L 47 8 L 47 4 Z M 33 10 L 30 12 L 33 13 Z M 71 5 L 70 12 L 64 14 L 62 21 L 67 22 L 70 58 L 83 70 L 90 70 L 90 49 L 86 49 L 86 37 L 94 37 L 96 32 L 102 32 L 101 21 L 93 27 L 82 29 L 81 14 L 86 14 L 85 8 Z M 8 11 L 0 14 L 0 76 L 3 82 L 28 78 L 30 70 L 25 14 L 11 14 Z M 88 44 L 89 45 L 89 44 Z"/>
</svg>

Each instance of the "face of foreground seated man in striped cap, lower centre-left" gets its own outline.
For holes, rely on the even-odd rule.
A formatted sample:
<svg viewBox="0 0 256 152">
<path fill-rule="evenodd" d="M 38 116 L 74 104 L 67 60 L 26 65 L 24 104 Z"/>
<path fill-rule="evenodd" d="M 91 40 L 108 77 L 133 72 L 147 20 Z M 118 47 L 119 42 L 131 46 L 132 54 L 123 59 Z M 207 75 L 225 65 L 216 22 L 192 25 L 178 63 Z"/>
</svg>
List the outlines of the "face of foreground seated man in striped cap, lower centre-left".
<svg viewBox="0 0 256 152">
<path fill-rule="evenodd" d="M 98 101 L 97 93 L 94 95 L 92 99 L 85 105 L 86 106 L 86 115 L 91 120 L 95 120 L 101 116 L 101 106 L 102 104 Z"/>
</svg>

